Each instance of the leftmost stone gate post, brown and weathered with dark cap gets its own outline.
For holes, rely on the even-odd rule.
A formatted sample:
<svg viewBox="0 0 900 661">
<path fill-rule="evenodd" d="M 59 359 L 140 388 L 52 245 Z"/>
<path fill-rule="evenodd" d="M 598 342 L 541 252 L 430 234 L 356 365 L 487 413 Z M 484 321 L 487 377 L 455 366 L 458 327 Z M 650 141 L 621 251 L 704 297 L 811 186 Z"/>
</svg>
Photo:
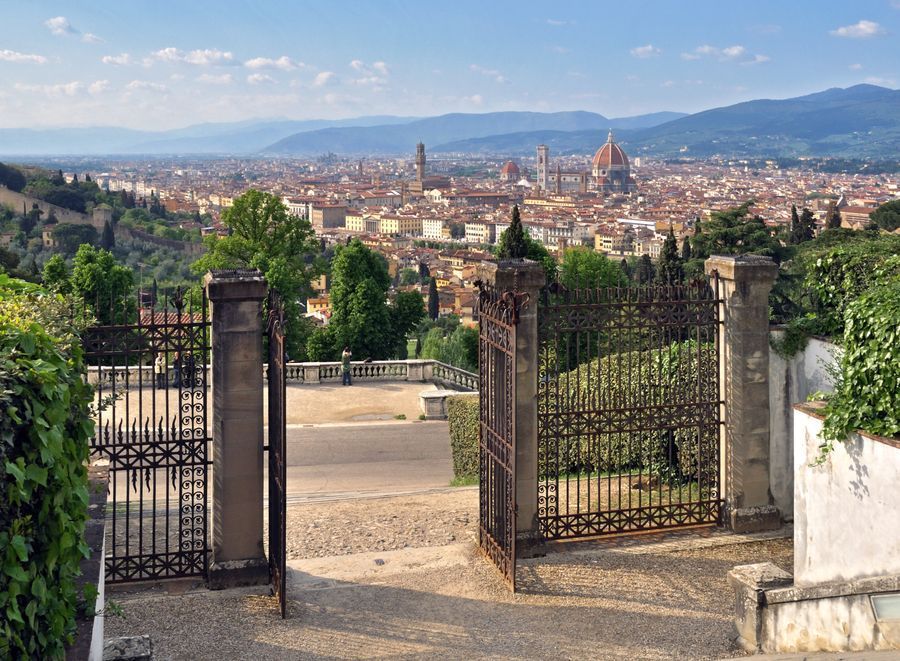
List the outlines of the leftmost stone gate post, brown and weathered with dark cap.
<svg viewBox="0 0 900 661">
<path fill-rule="evenodd" d="M 259 271 L 207 273 L 212 306 L 213 489 L 209 587 L 269 582 L 263 552 L 263 356 Z"/>
</svg>

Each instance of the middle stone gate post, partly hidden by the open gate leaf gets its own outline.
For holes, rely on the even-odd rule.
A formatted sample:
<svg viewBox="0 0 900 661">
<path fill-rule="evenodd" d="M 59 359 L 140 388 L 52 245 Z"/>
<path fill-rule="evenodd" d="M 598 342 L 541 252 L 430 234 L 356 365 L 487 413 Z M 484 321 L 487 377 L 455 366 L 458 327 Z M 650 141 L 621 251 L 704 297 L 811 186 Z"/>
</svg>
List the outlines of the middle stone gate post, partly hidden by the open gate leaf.
<svg viewBox="0 0 900 661">
<path fill-rule="evenodd" d="M 538 534 L 537 306 L 546 275 L 537 262 L 509 260 L 482 262 L 478 278 L 499 291 L 528 294 L 516 326 L 516 534 L 526 542 L 534 541 Z"/>
</svg>

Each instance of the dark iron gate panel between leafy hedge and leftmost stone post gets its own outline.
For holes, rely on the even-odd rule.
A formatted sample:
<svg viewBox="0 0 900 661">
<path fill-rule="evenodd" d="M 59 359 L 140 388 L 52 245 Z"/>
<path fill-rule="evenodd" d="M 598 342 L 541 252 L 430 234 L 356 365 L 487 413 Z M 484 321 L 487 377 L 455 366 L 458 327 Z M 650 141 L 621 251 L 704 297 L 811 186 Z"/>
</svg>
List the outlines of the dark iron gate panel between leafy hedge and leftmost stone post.
<svg viewBox="0 0 900 661">
<path fill-rule="evenodd" d="M 92 306 L 83 335 L 95 386 L 94 459 L 109 461 L 106 580 L 205 576 L 209 313 L 176 291 L 149 308 Z"/>
</svg>

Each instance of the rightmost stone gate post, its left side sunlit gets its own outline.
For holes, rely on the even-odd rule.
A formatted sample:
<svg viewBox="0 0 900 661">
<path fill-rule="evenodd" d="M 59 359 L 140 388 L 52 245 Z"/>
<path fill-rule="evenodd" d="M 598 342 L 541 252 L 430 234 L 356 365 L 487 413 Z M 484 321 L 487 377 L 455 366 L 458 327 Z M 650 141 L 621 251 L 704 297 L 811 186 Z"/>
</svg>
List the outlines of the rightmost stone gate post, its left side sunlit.
<svg viewBox="0 0 900 661">
<path fill-rule="evenodd" d="M 722 463 L 728 525 L 735 532 L 781 525 L 769 485 L 769 292 L 778 266 L 757 255 L 717 256 L 723 300 L 719 374 L 725 422 Z"/>
</svg>

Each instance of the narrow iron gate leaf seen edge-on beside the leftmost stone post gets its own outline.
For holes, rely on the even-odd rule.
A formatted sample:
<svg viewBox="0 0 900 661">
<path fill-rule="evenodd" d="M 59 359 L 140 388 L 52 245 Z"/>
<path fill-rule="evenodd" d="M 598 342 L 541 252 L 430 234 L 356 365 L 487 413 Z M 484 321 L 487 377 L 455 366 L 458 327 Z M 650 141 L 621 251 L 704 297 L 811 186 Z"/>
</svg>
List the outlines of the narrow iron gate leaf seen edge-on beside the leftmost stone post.
<svg viewBox="0 0 900 661">
<path fill-rule="evenodd" d="M 278 597 L 281 617 L 286 614 L 287 464 L 285 424 L 286 374 L 284 369 L 284 306 L 274 290 L 268 301 L 269 340 L 269 574 Z"/>
</svg>

